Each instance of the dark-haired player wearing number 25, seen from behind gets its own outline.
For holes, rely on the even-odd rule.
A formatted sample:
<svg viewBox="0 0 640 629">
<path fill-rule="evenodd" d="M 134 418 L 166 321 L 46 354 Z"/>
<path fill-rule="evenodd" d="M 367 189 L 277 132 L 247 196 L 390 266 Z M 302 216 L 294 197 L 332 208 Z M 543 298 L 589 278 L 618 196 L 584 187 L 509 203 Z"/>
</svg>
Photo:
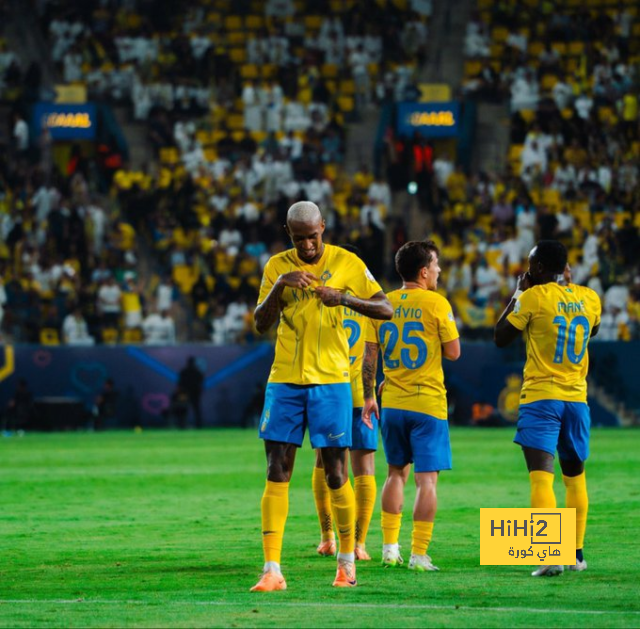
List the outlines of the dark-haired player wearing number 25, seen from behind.
<svg viewBox="0 0 640 629">
<path fill-rule="evenodd" d="M 447 396 L 442 358 L 460 357 L 460 340 L 449 302 L 435 292 L 440 266 L 432 241 L 408 242 L 396 254 L 402 288 L 389 293 L 392 321 L 372 321 L 365 336 L 362 365 L 363 421 L 378 416 L 373 388 L 382 348 L 382 442 L 389 464 L 382 489 L 382 564 L 403 563 L 398 539 L 404 486 L 414 465 L 417 488 L 409 569 L 437 570 L 427 555 L 436 515 L 436 484 L 451 469 Z"/>
</svg>

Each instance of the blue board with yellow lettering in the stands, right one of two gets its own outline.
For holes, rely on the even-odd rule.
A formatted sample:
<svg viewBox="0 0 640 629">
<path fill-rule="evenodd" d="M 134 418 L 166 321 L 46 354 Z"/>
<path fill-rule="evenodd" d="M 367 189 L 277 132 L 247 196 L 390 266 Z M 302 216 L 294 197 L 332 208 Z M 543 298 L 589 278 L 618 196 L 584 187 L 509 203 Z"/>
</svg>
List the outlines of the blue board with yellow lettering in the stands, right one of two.
<svg viewBox="0 0 640 629">
<path fill-rule="evenodd" d="M 453 138 L 460 132 L 460 105 L 446 103 L 400 103 L 397 112 L 398 135 L 425 138 Z"/>
</svg>

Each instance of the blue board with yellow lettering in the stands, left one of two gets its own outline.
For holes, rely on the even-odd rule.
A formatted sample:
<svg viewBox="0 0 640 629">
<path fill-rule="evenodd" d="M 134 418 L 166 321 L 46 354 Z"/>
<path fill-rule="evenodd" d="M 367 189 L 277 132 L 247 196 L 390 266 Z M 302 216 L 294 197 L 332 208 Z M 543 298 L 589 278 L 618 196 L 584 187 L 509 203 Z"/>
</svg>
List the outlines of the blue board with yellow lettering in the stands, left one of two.
<svg viewBox="0 0 640 629">
<path fill-rule="evenodd" d="M 33 108 L 33 128 L 39 135 L 47 127 L 54 140 L 93 140 L 98 127 L 96 106 L 38 103 Z"/>
</svg>

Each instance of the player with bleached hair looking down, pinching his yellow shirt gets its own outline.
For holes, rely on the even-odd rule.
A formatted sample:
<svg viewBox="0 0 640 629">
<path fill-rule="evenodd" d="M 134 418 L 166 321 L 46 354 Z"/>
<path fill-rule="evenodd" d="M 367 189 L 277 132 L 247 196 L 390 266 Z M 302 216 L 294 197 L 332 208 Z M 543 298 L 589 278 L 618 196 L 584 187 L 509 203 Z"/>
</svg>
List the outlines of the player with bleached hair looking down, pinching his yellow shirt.
<svg viewBox="0 0 640 629">
<path fill-rule="evenodd" d="M 280 556 L 289 480 L 307 427 L 312 447 L 322 451 L 338 528 L 338 571 L 333 584 L 356 585 L 355 499 L 346 471 L 352 400 L 343 308 L 374 319 L 390 319 L 392 310 L 357 256 L 322 242 L 324 228 L 314 203 L 300 201 L 289 208 L 286 230 L 293 249 L 267 262 L 255 310 L 258 332 L 266 332 L 278 321 L 278 335 L 259 428 L 267 455 L 262 497 L 265 565 L 253 591 L 286 588 Z"/>
</svg>

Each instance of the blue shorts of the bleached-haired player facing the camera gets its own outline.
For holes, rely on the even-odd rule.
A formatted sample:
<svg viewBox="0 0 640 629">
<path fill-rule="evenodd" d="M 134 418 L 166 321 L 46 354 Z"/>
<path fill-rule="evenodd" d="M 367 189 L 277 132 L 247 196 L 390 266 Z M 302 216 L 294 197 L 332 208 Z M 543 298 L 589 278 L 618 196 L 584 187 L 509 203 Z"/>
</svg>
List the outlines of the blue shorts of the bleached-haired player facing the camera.
<svg viewBox="0 0 640 629">
<path fill-rule="evenodd" d="M 301 446 L 309 429 L 313 448 L 350 448 L 351 384 L 269 383 L 258 428 L 260 438 Z"/>
</svg>

